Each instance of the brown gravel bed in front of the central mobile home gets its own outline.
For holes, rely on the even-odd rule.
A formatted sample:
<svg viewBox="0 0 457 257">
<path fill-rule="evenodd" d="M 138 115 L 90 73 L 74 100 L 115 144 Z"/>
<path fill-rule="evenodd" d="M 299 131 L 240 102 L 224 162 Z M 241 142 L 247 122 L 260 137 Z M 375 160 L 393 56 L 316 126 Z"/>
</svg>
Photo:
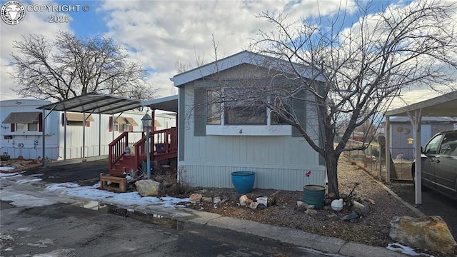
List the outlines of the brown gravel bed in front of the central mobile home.
<svg viewBox="0 0 457 257">
<path fill-rule="evenodd" d="M 343 208 L 339 212 L 318 210 L 318 215 L 309 216 L 296 208 L 296 202 L 303 199 L 302 191 L 280 191 L 278 193 L 278 202 L 275 206 L 268 206 L 268 208 L 264 209 L 251 209 L 239 206 L 238 198 L 241 195 L 236 193 L 233 188 L 204 188 L 196 192 L 201 193 L 203 196 L 221 196 L 221 198 L 226 198 L 226 201 L 217 207 L 213 203 L 203 201 L 201 203 L 191 203 L 187 207 L 381 247 L 386 247 L 388 243 L 393 243 L 388 236 L 388 232 L 390 229 L 389 222 L 394 216 L 418 217 L 417 212 L 408 208 L 398 198 L 389 193 L 383 183 L 373 179 L 358 166 L 351 165 L 345 157 L 341 157 L 338 163 L 338 183 L 341 193 L 350 193 L 354 184 L 359 183 L 355 188 L 356 195 L 362 199 L 371 199 L 374 203 L 370 206 L 368 216 L 362 217 L 357 223 L 339 219 L 329 221 L 324 218 L 331 213 L 336 213 L 341 218 L 351 212 L 348 208 Z M 255 199 L 258 196 L 271 196 L 275 191 L 253 189 L 252 193 L 248 193 L 246 196 Z M 434 253 L 434 255 L 439 256 L 438 253 Z"/>
</svg>

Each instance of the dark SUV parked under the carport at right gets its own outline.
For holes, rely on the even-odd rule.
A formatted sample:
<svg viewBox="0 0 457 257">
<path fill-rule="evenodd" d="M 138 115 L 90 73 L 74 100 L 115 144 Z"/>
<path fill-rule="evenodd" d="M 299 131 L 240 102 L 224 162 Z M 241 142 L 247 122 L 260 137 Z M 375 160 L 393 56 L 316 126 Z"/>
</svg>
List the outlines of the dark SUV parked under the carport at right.
<svg viewBox="0 0 457 257">
<path fill-rule="evenodd" d="M 437 133 L 422 148 L 421 156 L 423 186 L 457 198 L 457 130 Z"/>
</svg>

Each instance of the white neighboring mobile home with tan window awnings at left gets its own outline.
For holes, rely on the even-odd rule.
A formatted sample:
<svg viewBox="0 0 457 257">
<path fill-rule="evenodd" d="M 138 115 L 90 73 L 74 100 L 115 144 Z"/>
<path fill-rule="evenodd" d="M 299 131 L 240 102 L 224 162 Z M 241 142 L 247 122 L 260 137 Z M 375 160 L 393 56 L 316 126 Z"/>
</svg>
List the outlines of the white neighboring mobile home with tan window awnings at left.
<svg viewBox="0 0 457 257">
<path fill-rule="evenodd" d="M 51 102 L 31 99 L 0 101 L 0 153 L 8 153 L 11 158 L 42 158 L 43 128 L 45 157 L 50 160 L 107 156 L 109 143 L 124 131 L 131 132 L 129 146 L 143 136 L 141 118 L 145 112 L 124 111 L 113 116 L 86 114 L 84 122 L 81 113 L 46 111 L 43 119 L 42 110 L 37 108 L 48 104 Z M 176 119 L 174 115 L 159 113 L 156 124 L 160 128 L 176 126 Z"/>
</svg>

